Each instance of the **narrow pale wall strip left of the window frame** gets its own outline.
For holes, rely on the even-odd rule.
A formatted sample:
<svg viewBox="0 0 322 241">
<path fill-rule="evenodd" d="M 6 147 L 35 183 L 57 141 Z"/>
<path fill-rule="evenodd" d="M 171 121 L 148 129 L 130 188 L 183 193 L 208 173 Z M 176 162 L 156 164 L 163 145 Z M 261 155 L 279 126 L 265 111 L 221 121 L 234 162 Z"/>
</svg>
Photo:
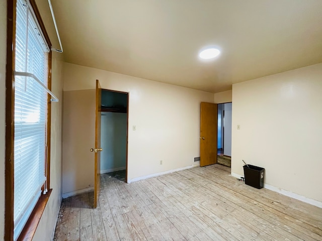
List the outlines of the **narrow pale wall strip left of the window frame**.
<svg viewBox="0 0 322 241">
<path fill-rule="evenodd" d="M 0 240 L 5 227 L 5 127 L 6 127 L 7 1 L 0 2 Z"/>
</svg>

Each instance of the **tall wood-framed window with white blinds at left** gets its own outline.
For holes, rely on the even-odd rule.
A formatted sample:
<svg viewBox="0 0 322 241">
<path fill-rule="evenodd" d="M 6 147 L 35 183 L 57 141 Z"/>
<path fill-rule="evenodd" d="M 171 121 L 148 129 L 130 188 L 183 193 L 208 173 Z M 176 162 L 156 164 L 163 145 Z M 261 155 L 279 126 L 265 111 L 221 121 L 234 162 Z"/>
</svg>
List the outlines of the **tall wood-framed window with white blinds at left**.
<svg viewBox="0 0 322 241">
<path fill-rule="evenodd" d="M 10 2 L 15 1 L 8 1 L 8 5 Z M 12 4 L 12 9 L 13 13 L 8 11 L 8 19 L 10 14 L 15 16 L 16 12 L 16 28 L 12 25 L 12 32 L 16 33 L 12 39 L 15 46 L 12 70 L 15 77 L 14 80 L 11 79 L 9 87 L 14 89 L 14 95 L 11 96 L 12 103 L 6 107 L 6 112 L 8 114 L 8 109 L 11 108 L 14 125 L 11 125 L 13 142 L 11 146 L 6 144 L 6 149 L 11 149 L 14 161 L 13 164 L 8 163 L 6 151 L 6 232 L 10 232 L 5 234 L 6 240 L 18 239 L 26 223 L 30 222 L 31 213 L 39 204 L 40 197 L 47 192 L 47 154 L 50 151 L 47 143 L 50 140 L 47 136 L 47 130 L 50 130 L 47 85 L 50 83 L 51 44 L 34 0 L 17 0 L 16 6 Z M 7 63 L 9 55 L 7 53 Z M 27 75 L 22 76 L 23 73 Z M 7 66 L 7 89 L 10 85 L 8 79 Z M 7 90 L 7 100 L 9 92 Z M 6 123 L 8 125 L 8 118 Z M 8 133 L 6 130 L 6 143 Z M 11 171 L 10 175 L 7 175 L 7 169 Z M 10 191 L 7 186 L 13 186 L 14 190 Z M 10 199 L 10 196 L 13 198 Z M 10 201 L 12 199 L 13 205 Z M 7 214 L 8 207 L 13 210 L 10 214 Z M 13 220 L 13 226 L 8 224 L 8 220 Z"/>
</svg>

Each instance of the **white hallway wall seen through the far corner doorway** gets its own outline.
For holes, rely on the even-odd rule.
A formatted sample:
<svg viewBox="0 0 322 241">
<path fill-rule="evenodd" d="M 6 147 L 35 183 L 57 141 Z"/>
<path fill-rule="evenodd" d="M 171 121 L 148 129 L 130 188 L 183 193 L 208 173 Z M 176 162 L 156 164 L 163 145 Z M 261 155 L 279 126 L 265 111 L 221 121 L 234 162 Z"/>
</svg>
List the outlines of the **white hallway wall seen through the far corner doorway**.
<svg viewBox="0 0 322 241">
<path fill-rule="evenodd" d="M 231 157 L 231 103 L 224 104 L 223 155 Z"/>
</svg>

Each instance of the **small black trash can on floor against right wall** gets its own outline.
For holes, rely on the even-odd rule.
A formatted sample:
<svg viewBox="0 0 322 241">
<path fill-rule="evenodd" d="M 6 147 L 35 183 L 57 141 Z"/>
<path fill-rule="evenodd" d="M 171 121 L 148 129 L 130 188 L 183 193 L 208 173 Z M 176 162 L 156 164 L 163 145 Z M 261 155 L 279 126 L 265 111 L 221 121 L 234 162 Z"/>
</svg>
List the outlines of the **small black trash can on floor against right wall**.
<svg viewBox="0 0 322 241">
<path fill-rule="evenodd" d="M 244 166 L 245 184 L 261 189 L 264 187 L 265 168 L 253 165 Z"/>
</svg>

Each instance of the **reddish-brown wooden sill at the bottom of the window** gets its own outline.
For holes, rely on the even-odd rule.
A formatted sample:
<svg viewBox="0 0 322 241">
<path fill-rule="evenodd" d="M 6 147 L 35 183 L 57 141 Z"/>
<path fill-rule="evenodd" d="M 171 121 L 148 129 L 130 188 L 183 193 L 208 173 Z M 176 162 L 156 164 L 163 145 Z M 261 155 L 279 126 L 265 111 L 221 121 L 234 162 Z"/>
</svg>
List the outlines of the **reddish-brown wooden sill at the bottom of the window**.
<svg viewBox="0 0 322 241">
<path fill-rule="evenodd" d="M 18 241 L 32 240 L 33 236 L 35 235 L 40 218 L 45 210 L 45 207 L 48 202 L 51 191 L 52 191 L 52 189 L 49 189 L 46 194 L 40 196 L 34 210 L 30 214 L 30 217 L 29 217 L 25 227 L 22 229 L 22 231 L 17 239 Z"/>
</svg>

